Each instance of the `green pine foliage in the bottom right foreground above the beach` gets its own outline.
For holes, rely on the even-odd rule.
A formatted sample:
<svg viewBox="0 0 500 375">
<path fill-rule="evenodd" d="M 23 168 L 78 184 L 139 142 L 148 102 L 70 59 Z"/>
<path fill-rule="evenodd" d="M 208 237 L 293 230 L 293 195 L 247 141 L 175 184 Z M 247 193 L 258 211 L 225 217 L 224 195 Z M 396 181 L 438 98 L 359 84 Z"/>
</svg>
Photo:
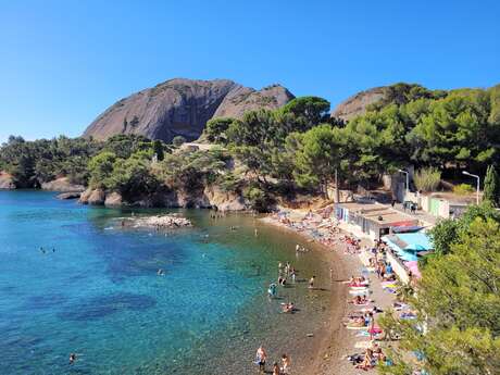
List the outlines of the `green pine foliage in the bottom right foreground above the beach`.
<svg viewBox="0 0 500 375">
<path fill-rule="evenodd" d="M 427 259 L 416 321 L 388 313 L 380 322 L 402 339 L 383 373 L 498 374 L 500 365 L 500 212 L 472 207 L 458 221 L 433 230 L 436 254 Z"/>
</svg>

